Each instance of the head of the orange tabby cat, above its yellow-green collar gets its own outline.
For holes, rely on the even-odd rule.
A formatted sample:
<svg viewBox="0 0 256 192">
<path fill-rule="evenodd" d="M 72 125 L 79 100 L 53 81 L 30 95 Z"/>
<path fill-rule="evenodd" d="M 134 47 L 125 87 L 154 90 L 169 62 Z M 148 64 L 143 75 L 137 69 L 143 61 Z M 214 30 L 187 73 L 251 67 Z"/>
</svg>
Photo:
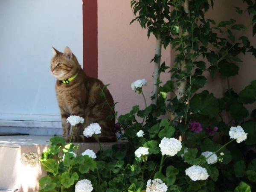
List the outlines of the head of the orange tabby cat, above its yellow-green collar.
<svg viewBox="0 0 256 192">
<path fill-rule="evenodd" d="M 76 56 L 69 47 L 65 47 L 63 53 L 52 47 L 52 52 L 54 56 L 51 61 L 51 73 L 58 80 L 68 79 L 74 76 L 81 68 Z"/>
</svg>

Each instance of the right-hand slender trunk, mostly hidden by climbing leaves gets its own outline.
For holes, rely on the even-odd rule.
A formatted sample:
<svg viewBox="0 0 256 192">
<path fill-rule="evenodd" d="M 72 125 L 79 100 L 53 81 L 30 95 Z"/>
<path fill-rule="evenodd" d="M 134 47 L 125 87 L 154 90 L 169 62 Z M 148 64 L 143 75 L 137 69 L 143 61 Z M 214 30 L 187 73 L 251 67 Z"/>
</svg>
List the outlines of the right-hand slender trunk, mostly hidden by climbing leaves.
<svg viewBox="0 0 256 192">
<path fill-rule="evenodd" d="M 190 15 L 189 14 L 189 0 L 185 0 L 184 4 L 183 4 L 183 8 L 184 8 L 184 11 L 186 12 L 186 14 Z M 184 32 L 184 36 L 188 36 L 189 33 L 186 31 Z M 185 66 L 186 66 L 186 62 L 185 61 L 182 61 L 181 63 L 181 70 L 185 70 Z M 184 80 L 184 79 L 183 79 Z M 179 100 L 183 94 L 185 93 L 185 90 L 186 90 L 186 79 L 185 81 L 180 81 L 180 85 L 177 87 L 177 99 Z"/>
</svg>

